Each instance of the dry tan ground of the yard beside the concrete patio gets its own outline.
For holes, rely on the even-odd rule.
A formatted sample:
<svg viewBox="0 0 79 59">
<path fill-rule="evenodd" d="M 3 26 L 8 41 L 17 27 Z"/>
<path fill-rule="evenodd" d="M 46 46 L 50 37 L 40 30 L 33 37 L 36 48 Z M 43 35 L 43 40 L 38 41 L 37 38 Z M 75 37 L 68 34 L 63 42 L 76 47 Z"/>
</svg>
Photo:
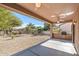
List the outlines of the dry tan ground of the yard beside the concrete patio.
<svg viewBox="0 0 79 59">
<path fill-rule="evenodd" d="M 29 34 L 23 34 L 15 39 L 8 40 L 0 37 L 0 55 L 12 55 L 29 47 L 32 47 L 40 42 L 43 42 L 49 38 L 48 35 L 32 36 Z"/>
</svg>

